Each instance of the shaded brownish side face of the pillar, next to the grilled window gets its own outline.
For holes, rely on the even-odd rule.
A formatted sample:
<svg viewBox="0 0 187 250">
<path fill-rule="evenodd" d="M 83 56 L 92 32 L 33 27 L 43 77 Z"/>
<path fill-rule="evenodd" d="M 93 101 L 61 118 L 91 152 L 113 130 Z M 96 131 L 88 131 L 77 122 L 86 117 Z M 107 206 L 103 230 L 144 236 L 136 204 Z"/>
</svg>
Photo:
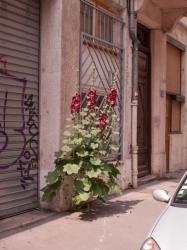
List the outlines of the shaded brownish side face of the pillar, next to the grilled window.
<svg viewBox="0 0 187 250">
<path fill-rule="evenodd" d="M 63 0 L 62 8 L 62 96 L 61 144 L 70 103 L 77 91 L 80 48 L 80 1 Z"/>
</svg>

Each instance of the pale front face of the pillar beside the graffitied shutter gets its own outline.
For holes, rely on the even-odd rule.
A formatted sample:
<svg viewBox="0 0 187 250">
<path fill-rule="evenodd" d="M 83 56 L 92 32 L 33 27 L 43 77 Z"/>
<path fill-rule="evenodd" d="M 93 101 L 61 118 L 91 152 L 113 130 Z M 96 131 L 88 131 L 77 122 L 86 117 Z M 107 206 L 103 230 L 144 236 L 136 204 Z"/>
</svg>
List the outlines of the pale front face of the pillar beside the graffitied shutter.
<svg viewBox="0 0 187 250">
<path fill-rule="evenodd" d="M 40 188 L 60 147 L 62 1 L 41 1 Z"/>
</svg>

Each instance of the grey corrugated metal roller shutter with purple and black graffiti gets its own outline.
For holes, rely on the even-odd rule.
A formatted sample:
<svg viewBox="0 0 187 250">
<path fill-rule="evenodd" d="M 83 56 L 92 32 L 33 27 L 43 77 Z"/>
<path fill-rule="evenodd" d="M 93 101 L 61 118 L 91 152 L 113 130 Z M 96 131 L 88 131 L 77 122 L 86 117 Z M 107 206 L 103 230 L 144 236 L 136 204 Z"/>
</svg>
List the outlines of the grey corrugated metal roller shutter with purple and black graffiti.
<svg viewBox="0 0 187 250">
<path fill-rule="evenodd" d="M 0 218 L 37 207 L 39 12 L 0 1 Z"/>
</svg>

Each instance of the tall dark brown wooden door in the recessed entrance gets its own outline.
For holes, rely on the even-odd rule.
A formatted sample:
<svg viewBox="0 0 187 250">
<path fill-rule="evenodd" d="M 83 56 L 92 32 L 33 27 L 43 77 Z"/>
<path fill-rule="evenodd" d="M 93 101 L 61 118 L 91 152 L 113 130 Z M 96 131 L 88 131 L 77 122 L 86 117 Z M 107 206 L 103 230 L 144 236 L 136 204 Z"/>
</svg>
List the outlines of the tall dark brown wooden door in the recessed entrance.
<svg viewBox="0 0 187 250">
<path fill-rule="evenodd" d="M 150 174 L 150 31 L 138 25 L 138 177 Z"/>
</svg>

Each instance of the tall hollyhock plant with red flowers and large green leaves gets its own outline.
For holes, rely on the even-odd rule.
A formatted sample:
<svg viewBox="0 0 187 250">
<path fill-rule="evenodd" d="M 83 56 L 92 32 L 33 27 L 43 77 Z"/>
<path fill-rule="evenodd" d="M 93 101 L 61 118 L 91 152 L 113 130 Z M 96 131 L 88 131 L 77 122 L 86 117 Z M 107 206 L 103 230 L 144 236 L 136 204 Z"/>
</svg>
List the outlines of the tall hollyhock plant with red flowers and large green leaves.
<svg viewBox="0 0 187 250">
<path fill-rule="evenodd" d="M 117 176 L 119 162 L 107 161 L 119 148 L 113 141 L 113 131 L 117 122 L 115 106 L 117 89 L 110 88 L 101 107 L 97 107 L 97 94 L 94 87 L 87 93 L 86 107 L 80 107 L 80 94 L 72 98 L 71 124 L 64 132 L 63 147 L 56 153 L 55 169 L 46 176 L 47 185 L 42 189 L 43 200 L 52 201 L 64 179 L 73 180 L 75 205 L 93 199 L 103 199 L 110 192 L 119 192 Z M 77 114 L 77 119 L 74 119 Z"/>
</svg>

